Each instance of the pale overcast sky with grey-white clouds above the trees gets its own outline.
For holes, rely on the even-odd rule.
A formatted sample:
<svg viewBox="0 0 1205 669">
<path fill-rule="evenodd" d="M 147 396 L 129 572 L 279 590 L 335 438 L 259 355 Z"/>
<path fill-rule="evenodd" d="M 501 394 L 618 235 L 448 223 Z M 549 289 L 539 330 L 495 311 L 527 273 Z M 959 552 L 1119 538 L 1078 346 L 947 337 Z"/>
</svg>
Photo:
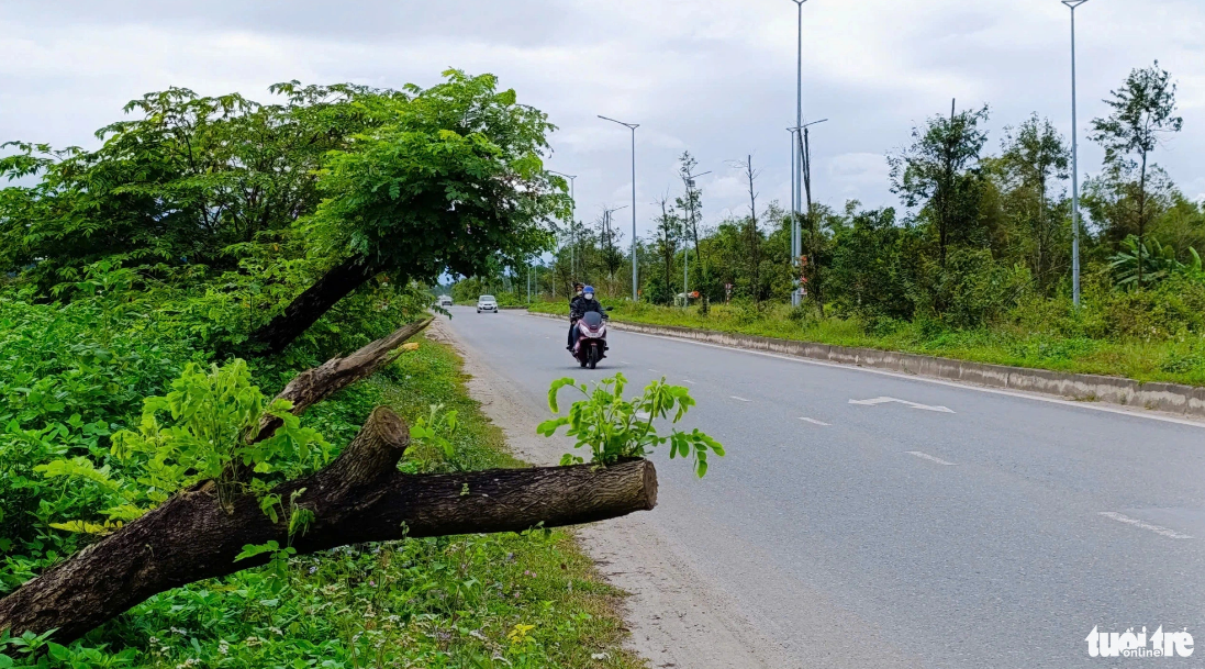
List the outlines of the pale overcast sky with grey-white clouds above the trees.
<svg viewBox="0 0 1205 669">
<path fill-rule="evenodd" d="M 676 157 L 699 159 L 709 223 L 743 213 L 731 163 L 763 169 L 759 207 L 789 199 L 795 110 L 790 0 L 0 0 L 0 141 L 94 146 L 122 105 L 169 86 L 237 90 L 351 81 L 431 84 L 453 66 L 493 72 L 546 111 L 549 169 L 580 175 L 578 216 L 630 201 L 628 131 L 640 123 L 636 207 L 681 192 Z M 884 153 L 912 125 L 992 107 L 989 148 L 1030 112 L 1070 134 L 1069 11 L 1058 0 L 810 0 L 804 115 L 815 199 L 894 205 Z M 1156 59 L 1180 84 L 1185 130 L 1156 159 L 1205 196 L 1205 0 L 1091 0 L 1078 10 L 1081 171 L 1101 98 Z M 629 212 L 619 215 L 628 221 Z"/>
</svg>

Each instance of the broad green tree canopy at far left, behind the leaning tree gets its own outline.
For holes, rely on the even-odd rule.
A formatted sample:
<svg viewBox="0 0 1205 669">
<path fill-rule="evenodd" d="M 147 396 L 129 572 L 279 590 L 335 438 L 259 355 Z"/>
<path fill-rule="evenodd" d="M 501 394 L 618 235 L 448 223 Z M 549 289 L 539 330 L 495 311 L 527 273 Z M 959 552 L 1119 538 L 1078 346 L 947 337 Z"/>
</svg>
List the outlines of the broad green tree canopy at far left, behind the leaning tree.
<svg viewBox="0 0 1205 669">
<path fill-rule="evenodd" d="M 237 245 L 317 207 L 325 154 L 398 96 L 351 84 L 270 90 L 284 101 L 148 93 L 125 106 L 137 118 L 96 131 L 95 151 L 5 145 L 17 153 L 0 175 L 39 181 L 0 190 L 0 269 L 25 270 L 43 291 L 99 260 L 234 269 Z"/>
</svg>

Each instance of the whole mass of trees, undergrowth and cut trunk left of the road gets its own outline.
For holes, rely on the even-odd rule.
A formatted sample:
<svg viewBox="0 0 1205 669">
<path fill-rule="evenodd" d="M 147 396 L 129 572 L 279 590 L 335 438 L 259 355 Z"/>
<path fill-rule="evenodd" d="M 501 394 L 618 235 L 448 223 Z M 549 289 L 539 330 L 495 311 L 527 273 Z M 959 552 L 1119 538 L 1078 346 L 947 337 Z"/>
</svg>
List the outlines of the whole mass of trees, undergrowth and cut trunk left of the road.
<svg viewBox="0 0 1205 669">
<path fill-rule="evenodd" d="M 437 276 L 548 247 L 552 125 L 454 70 L 271 93 L 5 145 L 0 667 L 639 665 L 553 528 L 651 507 L 643 450 L 527 468 L 404 344 Z"/>
</svg>

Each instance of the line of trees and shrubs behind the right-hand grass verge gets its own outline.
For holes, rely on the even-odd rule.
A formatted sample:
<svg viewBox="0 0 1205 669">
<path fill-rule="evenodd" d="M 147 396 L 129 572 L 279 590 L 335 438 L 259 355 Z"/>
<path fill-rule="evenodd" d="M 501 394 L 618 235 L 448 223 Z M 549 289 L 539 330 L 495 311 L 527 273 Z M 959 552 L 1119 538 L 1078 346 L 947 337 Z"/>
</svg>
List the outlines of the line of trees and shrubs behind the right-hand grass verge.
<svg viewBox="0 0 1205 669">
<path fill-rule="evenodd" d="M 1156 63 L 1134 70 L 1105 100 L 1110 113 L 1092 122 L 1088 140 L 1105 148 L 1105 162 L 1081 188 L 1088 293 L 1201 283 L 1205 203 L 1185 196 L 1154 162 L 1182 128 L 1175 95 Z M 904 210 L 850 201 L 804 212 L 801 270 L 790 258 L 792 215 L 777 203 L 759 207 L 752 158 L 735 165 L 748 182 L 748 211 L 706 225 L 703 192 L 689 178 L 696 162 L 683 153 L 681 193 L 654 203 L 653 230 L 637 240 L 641 299 L 674 304 L 686 281 L 698 301 L 781 303 L 797 271 L 806 278 L 805 309 L 817 313 L 978 327 L 1027 300 L 1069 299 L 1070 143 L 1034 113 L 1007 127 L 991 152 L 988 118 L 987 106 L 952 108 L 888 155 Z M 563 297 L 580 280 L 604 295 L 630 294 L 630 242 L 606 217 L 566 225 L 558 239 L 551 262 L 533 265 L 535 293 Z"/>
</svg>

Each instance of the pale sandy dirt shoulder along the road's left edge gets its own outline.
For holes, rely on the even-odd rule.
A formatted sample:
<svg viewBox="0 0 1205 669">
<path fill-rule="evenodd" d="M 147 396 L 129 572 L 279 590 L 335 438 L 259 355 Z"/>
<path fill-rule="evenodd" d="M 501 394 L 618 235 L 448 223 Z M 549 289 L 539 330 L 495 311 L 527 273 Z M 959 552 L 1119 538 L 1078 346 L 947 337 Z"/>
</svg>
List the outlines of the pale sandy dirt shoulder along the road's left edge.
<svg viewBox="0 0 1205 669">
<path fill-rule="evenodd" d="M 482 411 L 506 434 L 516 456 L 537 465 L 557 464 L 572 450 L 562 438 L 536 435 L 543 407 L 511 389 L 442 318 L 428 336 L 454 346 L 471 375 L 468 387 Z M 630 593 L 624 620 L 629 646 L 654 668 L 721 669 L 799 667 L 781 644 L 766 638 L 740 604 L 690 568 L 686 550 L 656 522 L 657 511 L 582 527 L 577 536 L 611 585 Z"/>
</svg>

